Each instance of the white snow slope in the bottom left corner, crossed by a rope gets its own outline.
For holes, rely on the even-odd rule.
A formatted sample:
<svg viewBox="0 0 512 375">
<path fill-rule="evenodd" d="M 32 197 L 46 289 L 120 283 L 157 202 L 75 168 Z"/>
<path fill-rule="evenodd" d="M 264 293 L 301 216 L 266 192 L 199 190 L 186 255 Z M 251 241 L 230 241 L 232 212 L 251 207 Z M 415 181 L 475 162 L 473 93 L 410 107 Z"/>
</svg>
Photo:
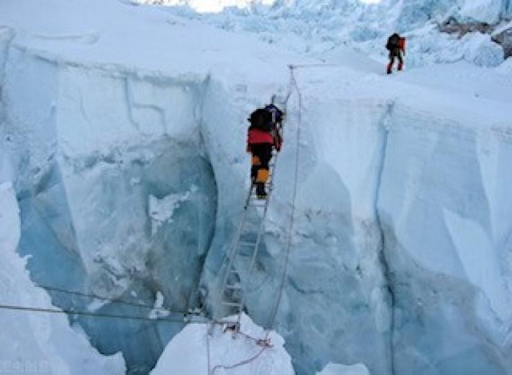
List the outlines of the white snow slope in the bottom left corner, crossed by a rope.
<svg viewBox="0 0 512 375">
<path fill-rule="evenodd" d="M 10 183 L 0 183 L 0 305 L 52 306 L 44 290 L 28 277 L 15 252 L 20 235 L 19 208 Z M 102 356 L 67 316 L 0 308 L 0 372 L 23 374 L 124 374 L 121 353 Z"/>
</svg>

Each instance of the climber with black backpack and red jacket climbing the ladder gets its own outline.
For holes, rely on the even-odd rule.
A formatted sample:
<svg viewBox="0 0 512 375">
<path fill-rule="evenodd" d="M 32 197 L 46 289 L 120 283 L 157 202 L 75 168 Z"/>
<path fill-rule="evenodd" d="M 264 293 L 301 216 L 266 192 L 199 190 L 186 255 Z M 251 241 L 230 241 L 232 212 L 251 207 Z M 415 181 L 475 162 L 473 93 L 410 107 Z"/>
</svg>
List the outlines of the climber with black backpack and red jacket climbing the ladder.
<svg viewBox="0 0 512 375">
<path fill-rule="evenodd" d="M 252 154 L 250 178 L 256 185 L 258 199 L 266 199 L 265 183 L 268 180 L 268 162 L 272 150 L 280 151 L 282 110 L 273 104 L 258 108 L 250 114 L 247 135 L 247 151 Z"/>
</svg>

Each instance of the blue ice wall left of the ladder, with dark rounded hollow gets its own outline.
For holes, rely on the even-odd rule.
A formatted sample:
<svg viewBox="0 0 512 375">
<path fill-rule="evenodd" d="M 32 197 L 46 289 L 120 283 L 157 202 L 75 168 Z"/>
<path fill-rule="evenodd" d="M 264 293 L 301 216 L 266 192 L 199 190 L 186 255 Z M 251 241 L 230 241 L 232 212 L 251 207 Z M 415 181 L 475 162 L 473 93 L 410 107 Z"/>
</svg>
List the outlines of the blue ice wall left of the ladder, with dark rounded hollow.
<svg viewBox="0 0 512 375">
<path fill-rule="evenodd" d="M 67 65 L 14 45 L 7 56 L 6 144 L 22 210 L 19 253 L 31 255 L 33 280 L 148 305 L 160 291 L 167 308 L 196 307 L 216 206 L 198 132 L 200 79 Z M 169 197 L 176 204 L 155 219 L 151 201 Z M 62 308 L 91 302 L 52 297 Z M 149 313 L 117 303 L 99 311 Z M 141 371 L 181 326 L 81 321 L 96 347 L 123 350 Z"/>
</svg>

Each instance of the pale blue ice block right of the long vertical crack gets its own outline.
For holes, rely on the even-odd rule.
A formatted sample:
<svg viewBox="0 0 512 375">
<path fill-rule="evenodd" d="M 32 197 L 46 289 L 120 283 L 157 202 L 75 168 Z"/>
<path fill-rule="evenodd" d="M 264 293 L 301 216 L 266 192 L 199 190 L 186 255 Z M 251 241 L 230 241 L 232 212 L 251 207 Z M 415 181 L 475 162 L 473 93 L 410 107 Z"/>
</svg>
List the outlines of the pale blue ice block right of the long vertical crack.
<svg viewBox="0 0 512 375">
<path fill-rule="evenodd" d="M 379 216 L 395 370 L 510 374 L 510 128 L 402 106 L 391 122 Z"/>
</svg>

